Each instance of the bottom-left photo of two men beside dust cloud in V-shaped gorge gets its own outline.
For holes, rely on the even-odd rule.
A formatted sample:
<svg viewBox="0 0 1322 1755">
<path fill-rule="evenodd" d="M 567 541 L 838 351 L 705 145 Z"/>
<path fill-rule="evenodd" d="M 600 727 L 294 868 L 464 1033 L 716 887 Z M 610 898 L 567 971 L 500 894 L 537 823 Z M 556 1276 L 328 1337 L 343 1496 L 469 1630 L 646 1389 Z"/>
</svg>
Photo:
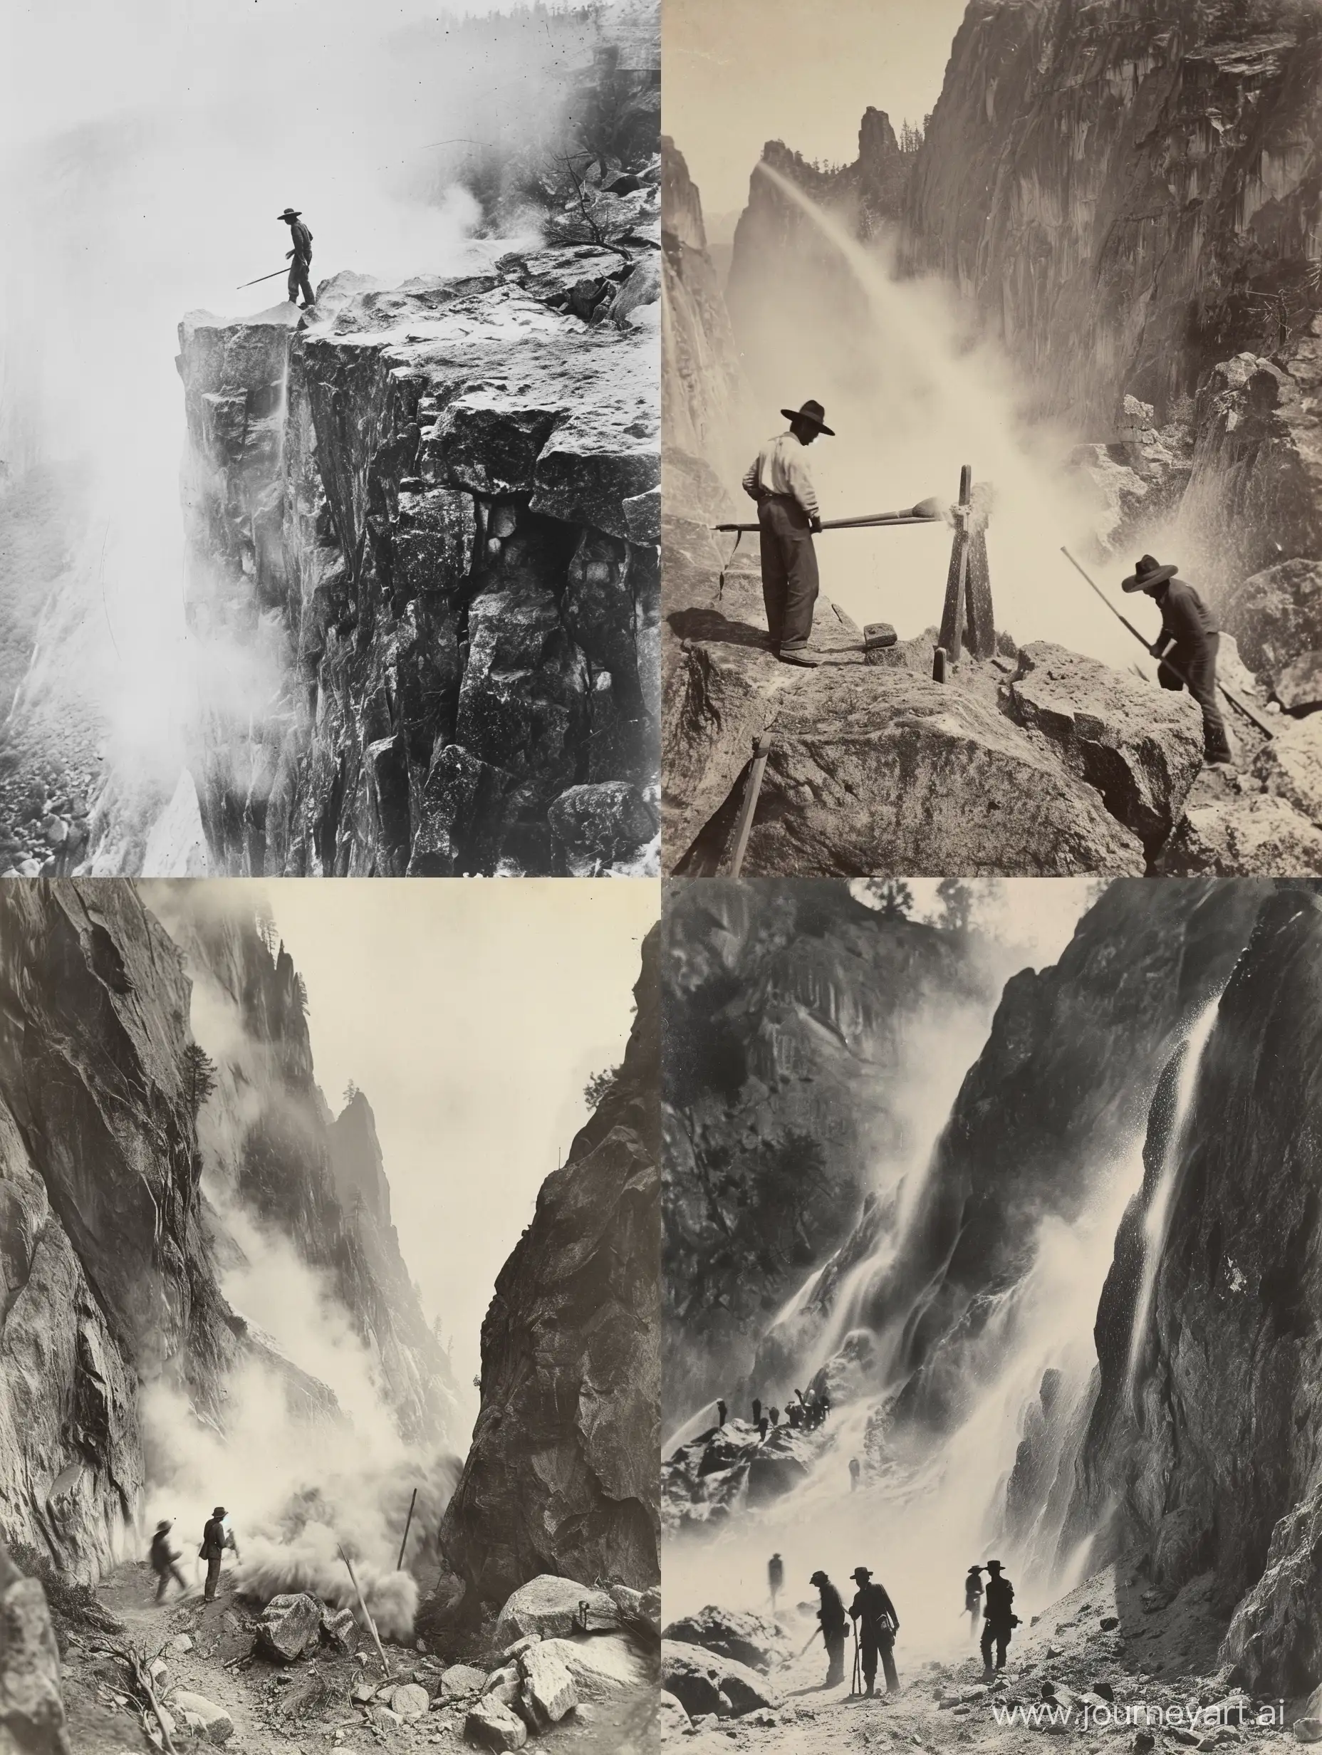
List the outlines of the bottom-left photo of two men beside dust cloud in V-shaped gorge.
<svg viewBox="0 0 1322 1755">
<path fill-rule="evenodd" d="M 655 1743 L 657 935 L 0 886 L 5 1750 Z"/>
</svg>

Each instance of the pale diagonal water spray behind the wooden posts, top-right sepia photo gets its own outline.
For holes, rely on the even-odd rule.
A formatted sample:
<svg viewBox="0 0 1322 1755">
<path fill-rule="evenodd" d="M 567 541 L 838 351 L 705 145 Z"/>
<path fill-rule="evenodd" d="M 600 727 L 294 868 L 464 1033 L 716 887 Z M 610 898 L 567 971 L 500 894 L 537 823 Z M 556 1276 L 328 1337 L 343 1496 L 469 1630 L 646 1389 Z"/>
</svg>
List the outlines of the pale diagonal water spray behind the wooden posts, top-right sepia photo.
<svg viewBox="0 0 1322 1755">
<path fill-rule="evenodd" d="M 1097 498 L 1064 469 L 1073 435 L 1024 416 L 1024 383 L 990 342 L 974 342 L 950 290 L 899 279 L 885 240 L 864 246 L 767 163 L 757 176 L 804 216 L 846 283 L 839 311 L 785 323 L 795 274 L 822 297 L 822 261 L 780 251 L 751 318 L 750 377 L 774 404 L 818 397 L 836 439 L 811 451 L 825 518 L 892 511 L 929 495 L 955 500 L 962 463 L 994 491 L 987 534 L 997 625 L 1020 642 L 1057 641 L 1111 665 L 1143 653 L 1073 576 L 1062 544 L 1085 551 Z M 862 298 L 859 297 L 862 295 Z M 751 297 L 751 295 L 746 295 Z M 843 530 L 818 542 L 822 583 L 855 621 L 885 620 L 902 637 L 939 621 L 950 532 L 945 525 Z M 1099 567 L 1115 588 L 1118 563 Z M 1141 616 L 1138 618 L 1141 621 Z M 1157 628 L 1153 625 L 1153 639 Z"/>
</svg>

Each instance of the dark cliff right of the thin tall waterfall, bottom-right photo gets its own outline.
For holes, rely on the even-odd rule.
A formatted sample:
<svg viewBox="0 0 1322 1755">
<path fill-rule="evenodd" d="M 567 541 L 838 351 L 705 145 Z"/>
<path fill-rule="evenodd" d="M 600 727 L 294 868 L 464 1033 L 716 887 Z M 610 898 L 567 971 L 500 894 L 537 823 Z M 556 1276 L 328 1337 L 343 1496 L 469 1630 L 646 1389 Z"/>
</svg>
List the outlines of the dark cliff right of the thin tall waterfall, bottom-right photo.
<svg viewBox="0 0 1322 1755">
<path fill-rule="evenodd" d="M 1153 1106 L 1148 1176 L 1099 1313 L 1080 1471 L 1083 1511 L 1096 1518 L 1118 1501 L 1110 1539 L 1141 1543 L 1159 1588 L 1213 1574 L 1218 1606 L 1234 1609 L 1224 1655 L 1254 1692 L 1282 1695 L 1322 1681 L 1318 969 L 1315 886 L 1282 886 L 1261 904 L 1220 999 L 1176 1141 L 1169 1104 Z M 1162 1167 L 1164 1241 L 1127 1386 L 1132 1239 Z"/>
</svg>

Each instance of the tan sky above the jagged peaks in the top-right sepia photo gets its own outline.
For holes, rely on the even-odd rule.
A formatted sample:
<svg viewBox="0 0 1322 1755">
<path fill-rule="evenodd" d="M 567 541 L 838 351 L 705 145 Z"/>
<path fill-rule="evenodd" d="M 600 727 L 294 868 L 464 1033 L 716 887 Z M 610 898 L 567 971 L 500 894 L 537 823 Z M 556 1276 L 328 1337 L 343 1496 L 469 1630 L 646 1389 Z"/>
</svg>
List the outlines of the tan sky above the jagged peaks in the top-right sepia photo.
<svg viewBox="0 0 1322 1755">
<path fill-rule="evenodd" d="M 744 205 L 765 140 L 848 161 L 869 104 L 922 121 L 962 18 L 964 0 L 665 0 L 662 125 L 704 212 Z"/>
</svg>

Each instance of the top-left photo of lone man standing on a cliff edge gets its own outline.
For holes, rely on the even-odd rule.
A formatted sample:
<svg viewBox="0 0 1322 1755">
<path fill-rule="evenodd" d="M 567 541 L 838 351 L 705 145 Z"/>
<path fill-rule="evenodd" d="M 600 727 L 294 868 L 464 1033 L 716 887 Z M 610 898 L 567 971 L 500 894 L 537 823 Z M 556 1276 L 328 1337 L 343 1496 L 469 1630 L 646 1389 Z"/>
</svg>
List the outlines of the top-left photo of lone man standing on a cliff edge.
<svg viewBox="0 0 1322 1755">
<path fill-rule="evenodd" d="M 657 869 L 657 0 L 11 0 L 0 872 Z"/>
</svg>

